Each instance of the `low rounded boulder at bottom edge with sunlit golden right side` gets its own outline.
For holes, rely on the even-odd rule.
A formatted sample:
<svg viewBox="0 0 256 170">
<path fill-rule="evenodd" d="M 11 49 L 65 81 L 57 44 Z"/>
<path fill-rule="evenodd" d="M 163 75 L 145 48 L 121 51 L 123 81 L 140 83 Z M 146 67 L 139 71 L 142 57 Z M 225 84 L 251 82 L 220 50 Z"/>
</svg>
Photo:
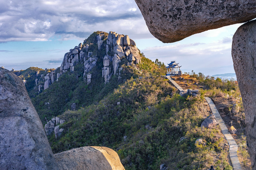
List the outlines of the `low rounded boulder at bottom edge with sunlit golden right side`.
<svg viewBox="0 0 256 170">
<path fill-rule="evenodd" d="M 60 170 L 124 170 L 115 151 L 107 147 L 84 146 L 54 154 Z"/>
</svg>

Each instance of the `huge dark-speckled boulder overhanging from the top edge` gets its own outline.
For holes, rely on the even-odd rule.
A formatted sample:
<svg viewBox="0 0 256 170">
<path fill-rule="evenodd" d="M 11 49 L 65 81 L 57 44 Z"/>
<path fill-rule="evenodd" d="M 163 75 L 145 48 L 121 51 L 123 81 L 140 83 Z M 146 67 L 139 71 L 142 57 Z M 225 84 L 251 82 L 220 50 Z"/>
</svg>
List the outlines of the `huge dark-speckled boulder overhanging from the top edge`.
<svg viewBox="0 0 256 170">
<path fill-rule="evenodd" d="M 148 29 L 162 42 L 256 18 L 252 0 L 135 0 Z"/>
</svg>

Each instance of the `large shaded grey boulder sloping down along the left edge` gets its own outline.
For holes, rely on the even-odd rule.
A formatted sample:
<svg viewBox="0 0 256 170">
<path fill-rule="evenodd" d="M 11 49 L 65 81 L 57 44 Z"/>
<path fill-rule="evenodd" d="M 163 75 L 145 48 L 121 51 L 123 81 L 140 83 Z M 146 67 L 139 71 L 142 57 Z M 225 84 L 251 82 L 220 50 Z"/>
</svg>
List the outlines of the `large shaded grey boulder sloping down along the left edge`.
<svg viewBox="0 0 256 170">
<path fill-rule="evenodd" d="M 1 169 L 59 169 L 22 80 L 0 68 Z"/>
</svg>

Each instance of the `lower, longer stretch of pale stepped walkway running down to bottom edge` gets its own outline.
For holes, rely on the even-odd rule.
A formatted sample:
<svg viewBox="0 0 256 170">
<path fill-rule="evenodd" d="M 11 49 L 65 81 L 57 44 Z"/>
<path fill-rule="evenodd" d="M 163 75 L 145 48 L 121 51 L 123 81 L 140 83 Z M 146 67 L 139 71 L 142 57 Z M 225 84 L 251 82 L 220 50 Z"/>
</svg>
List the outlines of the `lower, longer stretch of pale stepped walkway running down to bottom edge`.
<svg viewBox="0 0 256 170">
<path fill-rule="evenodd" d="M 234 140 L 234 138 L 228 132 L 228 128 L 226 127 L 225 122 L 220 117 L 220 113 L 218 112 L 218 110 L 215 107 L 215 105 L 212 102 L 212 100 L 209 97 L 205 97 L 204 99 L 209 104 L 209 106 L 210 106 L 210 108 L 212 110 L 212 113 L 216 117 L 216 121 L 220 124 L 220 129 L 221 129 L 223 135 L 225 136 L 225 138 L 228 141 L 228 144 L 229 144 L 229 156 L 230 156 L 230 159 L 231 159 L 231 162 L 232 162 L 233 169 L 234 170 L 242 170 L 241 164 L 240 164 L 239 159 L 237 157 L 237 144 L 236 144 L 236 141 Z"/>
</svg>

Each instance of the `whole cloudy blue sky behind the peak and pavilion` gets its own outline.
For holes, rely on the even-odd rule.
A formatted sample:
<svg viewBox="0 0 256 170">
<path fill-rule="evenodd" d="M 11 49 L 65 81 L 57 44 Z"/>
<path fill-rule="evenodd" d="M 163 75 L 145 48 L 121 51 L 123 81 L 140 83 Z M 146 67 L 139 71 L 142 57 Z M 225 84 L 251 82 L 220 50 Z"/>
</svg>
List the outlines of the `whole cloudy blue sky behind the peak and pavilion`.
<svg viewBox="0 0 256 170">
<path fill-rule="evenodd" d="M 150 34 L 134 0 L 0 0 L 0 67 L 57 68 L 94 31 L 113 31 L 129 35 L 152 61 L 176 61 L 182 72 L 234 73 L 232 37 L 241 25 L 163 43 Z"/>
</svg>

